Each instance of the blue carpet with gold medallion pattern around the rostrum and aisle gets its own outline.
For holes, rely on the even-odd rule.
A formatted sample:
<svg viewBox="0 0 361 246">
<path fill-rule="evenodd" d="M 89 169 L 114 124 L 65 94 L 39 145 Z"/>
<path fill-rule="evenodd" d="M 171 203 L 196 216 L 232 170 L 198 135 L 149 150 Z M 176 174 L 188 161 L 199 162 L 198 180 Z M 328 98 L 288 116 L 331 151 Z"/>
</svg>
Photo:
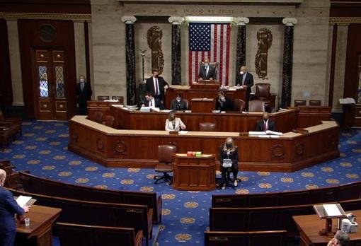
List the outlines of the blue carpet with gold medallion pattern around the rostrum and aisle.
<svg viewBox="0 0 361 246">
<path fill-rule="evenodd" d="M 160 245 L 204 245 L 212 194 L 280 192 L 313 189 L 360 180 L 361 130 L 340 134 L 340 158 L 298 172 L 239 172 L 238 189 L 179 192 L 154 185 L 154 170 L 105 168 L 70 151 L 67 122 L 23 123 L 23 136 L 13 141 L 0 159 L 11 160 L 17 170 L 50 179 L 111 189 L 154 191 L 164 199 Z M 140 151 L 140 150 L 139 150 Z"/>
</svg>

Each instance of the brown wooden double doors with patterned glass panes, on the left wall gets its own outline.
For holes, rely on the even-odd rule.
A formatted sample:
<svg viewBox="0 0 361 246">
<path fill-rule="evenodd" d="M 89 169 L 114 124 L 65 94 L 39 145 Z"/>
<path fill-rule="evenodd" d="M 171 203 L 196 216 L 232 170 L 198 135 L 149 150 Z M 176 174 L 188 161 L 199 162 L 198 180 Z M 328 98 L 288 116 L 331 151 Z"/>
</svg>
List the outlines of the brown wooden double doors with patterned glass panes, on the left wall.
<svg viewBox="0 0 361 246">
<path fill-rule="evenodd" d="M 64 50 L 33 49 L 33 54 L 36 119 L 67 119 Z"/>
</svg>

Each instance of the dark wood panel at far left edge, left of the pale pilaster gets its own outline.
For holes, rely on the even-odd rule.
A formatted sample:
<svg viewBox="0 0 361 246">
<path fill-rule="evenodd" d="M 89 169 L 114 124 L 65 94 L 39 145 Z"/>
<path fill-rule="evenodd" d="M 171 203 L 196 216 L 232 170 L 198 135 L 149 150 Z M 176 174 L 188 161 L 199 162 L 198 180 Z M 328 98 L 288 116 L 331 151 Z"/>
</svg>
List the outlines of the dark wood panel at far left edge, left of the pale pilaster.
<svg viewBox="0 0 361 246">
<path fill-rule="evenodd" d="M 0 37 L 0 105 L 11 105 L 13 91 L 8 53 L 8 28 L 4 19 L 0 19 Z"/>
</svg>

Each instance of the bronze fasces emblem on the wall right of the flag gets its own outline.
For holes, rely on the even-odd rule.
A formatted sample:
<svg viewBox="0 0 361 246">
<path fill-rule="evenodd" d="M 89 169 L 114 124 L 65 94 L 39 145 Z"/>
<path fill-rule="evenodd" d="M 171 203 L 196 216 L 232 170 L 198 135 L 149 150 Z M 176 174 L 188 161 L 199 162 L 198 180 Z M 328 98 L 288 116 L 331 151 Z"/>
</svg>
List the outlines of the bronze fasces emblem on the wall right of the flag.
<svg viewBox="0 0 361 246">
<path fill-rule="evenodd" d="M 267 78 L 268 49 L 272 45 L 272 33 L 268 28 L 260 28 L 257 32 L 258 50 L 256 53 L 255 65 L 258 78 Z"/>
</svg>

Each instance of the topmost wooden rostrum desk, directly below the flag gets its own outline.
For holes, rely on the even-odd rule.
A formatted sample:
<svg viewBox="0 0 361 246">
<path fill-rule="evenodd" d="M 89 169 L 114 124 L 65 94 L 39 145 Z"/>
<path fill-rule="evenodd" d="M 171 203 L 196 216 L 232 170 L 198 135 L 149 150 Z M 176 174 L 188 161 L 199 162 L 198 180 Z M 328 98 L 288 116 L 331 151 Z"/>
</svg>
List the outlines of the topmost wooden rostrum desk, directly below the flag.
<svg viewBox="0 0 361 246">
<path fill-rule="evenodd" d="M 238 98 L 246 101 L 246 89 L 239 90 L 222 90 L 224 94 L 232 98 L 233 100 Z M 171 102 L 176 98 L 177 93 L 182 95 L 182 98 L 188 101 L 192 98 L 217 98 L 219 88 L 190 88 L 190 86 L 169 86 L 166 92 L 166 107 L 169 108 Z"/>
</svg>

